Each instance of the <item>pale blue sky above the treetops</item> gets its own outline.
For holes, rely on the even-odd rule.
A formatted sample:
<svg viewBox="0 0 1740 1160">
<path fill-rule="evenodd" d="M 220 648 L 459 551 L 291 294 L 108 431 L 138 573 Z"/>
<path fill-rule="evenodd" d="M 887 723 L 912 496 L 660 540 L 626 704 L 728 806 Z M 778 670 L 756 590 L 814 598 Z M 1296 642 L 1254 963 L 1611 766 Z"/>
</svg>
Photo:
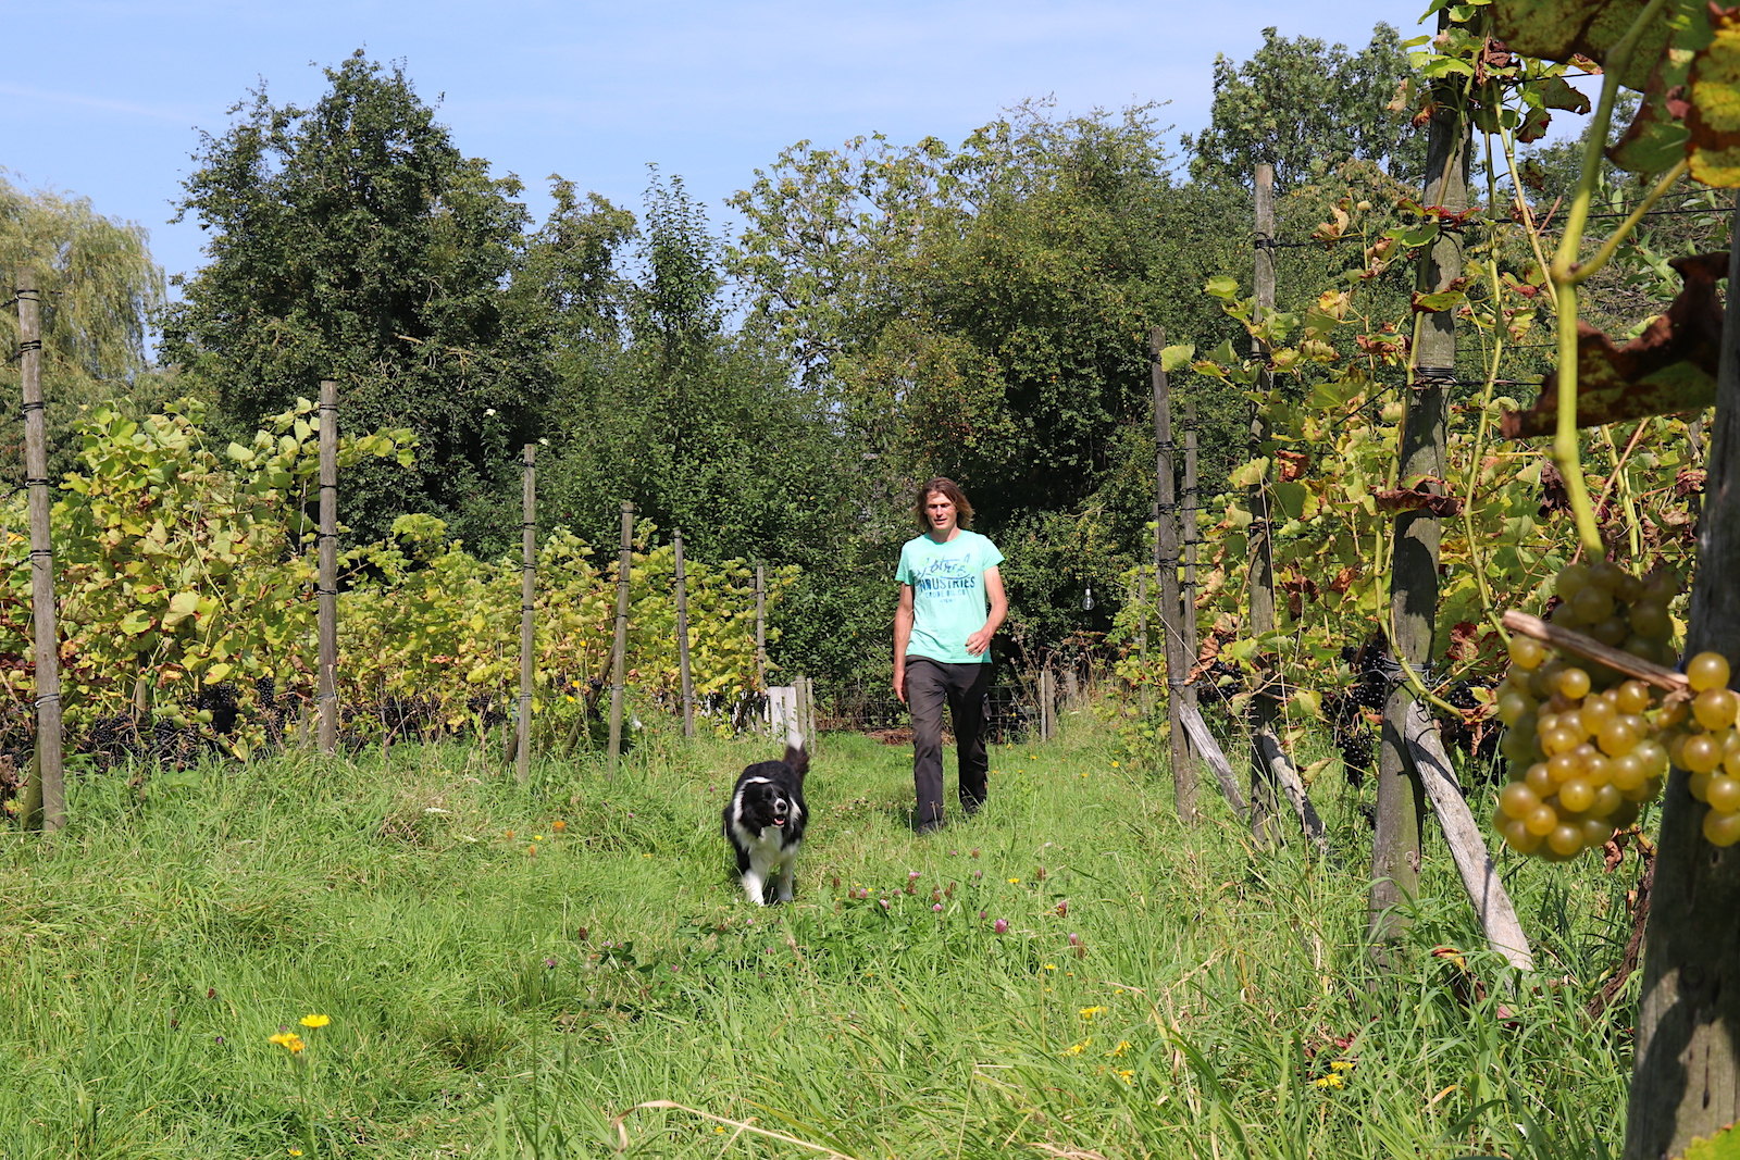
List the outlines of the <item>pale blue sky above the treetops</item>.
<svg viewBox="0 0 1740 1160">
<path fill-rule="evenodd" d="M 402 61 L 454 143 L 527 183 L 541 217 L 560 172 L 639 210 L 646 165 L 680 174 L 715 228 L 724 198 L 781 148 L 884 132 L 960 141 L 1000 110 L 1065 113 L 1169 101 L 1178 132 L 1208 118 L 1216 54 L 1265 26 L 1362 47 L 1378 21 L 1418 31 L 1423 0 L 7 0 L 0 167 L 14 184 L 90 198 L 151 231 L 169 273 L 200 263 L 195 223 L 169 224 L 200 130 L 264 82 L 310 103 L 320 66 L 355 49 Z"/>
</svg>

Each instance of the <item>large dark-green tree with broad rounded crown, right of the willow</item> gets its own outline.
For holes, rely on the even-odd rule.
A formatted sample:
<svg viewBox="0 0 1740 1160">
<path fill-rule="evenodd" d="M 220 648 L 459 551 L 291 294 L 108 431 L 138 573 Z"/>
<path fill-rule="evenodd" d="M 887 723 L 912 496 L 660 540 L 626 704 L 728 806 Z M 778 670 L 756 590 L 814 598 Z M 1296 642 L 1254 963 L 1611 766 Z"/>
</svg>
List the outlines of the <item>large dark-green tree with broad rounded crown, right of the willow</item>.
<svg viewBox="0 0 1740 1160">
<path fill-rule="evenodd" d="M 412 428 L 411 473 L 346 480 L 346 522 L 376 537 L 400 511 L 452 518 L 510 470 L 548 386 L 546 317 L 508 289 L 520 183 L 463 157 L 398 66 L 358 50 L 325 75 L 311 108 L 259 90 L 204 139 L 181 216 L 211 231 L 211 263 L 164 351 L 238 428 L 325 377 L 346 428 Z"/>
</svg>

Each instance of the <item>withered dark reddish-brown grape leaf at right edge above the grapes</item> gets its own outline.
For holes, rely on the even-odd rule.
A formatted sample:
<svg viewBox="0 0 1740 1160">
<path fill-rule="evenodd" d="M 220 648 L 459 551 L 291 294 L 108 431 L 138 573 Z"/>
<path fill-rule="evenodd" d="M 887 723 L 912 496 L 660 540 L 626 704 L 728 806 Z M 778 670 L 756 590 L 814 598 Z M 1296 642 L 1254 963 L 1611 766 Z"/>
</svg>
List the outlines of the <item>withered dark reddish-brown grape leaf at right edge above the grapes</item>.
<svg viewBox="0 0 1740 1160">
<path fill-rule="evenodd" d="M 1728 254 L 1698 254 L 1669 263 L 1684 280 L 1674 303 L 1650 327 L 1615 346 L 1601 330 L 1576 327 L 1576 424 L 1601 426 L 1646 416 L 1698 410 L 1716 402 L 1723 304 L 1716 280 Z M 1528 410 L 1500 419 L 1505 438 L 1550 435 L 1559 424 L 1559 376 L 1549 372 Z"/>
</svg>

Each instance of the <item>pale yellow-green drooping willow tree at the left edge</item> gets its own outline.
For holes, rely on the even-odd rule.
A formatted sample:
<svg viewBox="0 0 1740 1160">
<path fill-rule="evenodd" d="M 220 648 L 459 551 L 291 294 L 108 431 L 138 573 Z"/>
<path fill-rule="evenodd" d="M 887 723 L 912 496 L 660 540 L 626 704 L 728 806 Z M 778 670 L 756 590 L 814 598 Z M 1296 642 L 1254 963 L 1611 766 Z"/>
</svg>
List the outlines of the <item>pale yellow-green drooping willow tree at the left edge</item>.
<svg viewBox="0 0 1740 1160">
<path fill-rule="evenodd" d="M 49 402 L 52 475 L 75 463 L 78 409 L 113 398 L 157 398 L 160 376 L 146 334 L 164 304 L 164 271 L 146 231 L 99 214 L 89 200 L 24 191 L 0 176 L 0 299 L 42 294 L 42 386 Z M 17 350 L 17 311 L 0 311 L 0 343 Z M 0 417 L 0 487 L 24 478 L 24 426 Z"/>
</svg>

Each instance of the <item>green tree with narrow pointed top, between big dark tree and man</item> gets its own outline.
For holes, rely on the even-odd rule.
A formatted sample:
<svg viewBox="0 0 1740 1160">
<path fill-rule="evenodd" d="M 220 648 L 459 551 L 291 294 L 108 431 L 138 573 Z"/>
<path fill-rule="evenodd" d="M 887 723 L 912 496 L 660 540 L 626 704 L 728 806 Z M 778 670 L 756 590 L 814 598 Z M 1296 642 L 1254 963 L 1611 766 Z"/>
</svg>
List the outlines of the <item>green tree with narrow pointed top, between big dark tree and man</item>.
<svg viewBox="0 0 1740 1160">
<path fill-rule="evenodd" d="M 560 266 L 559 283 L 588 271 L 581 308 L 560 315 L 586 322 L 555 343 L 539 492 L 593 544 L 614 544 L 628 499 L 659 529 L 680 527 L 698 560 L 800 565 L 774 659 L 839 671 L 840 656 L 853 659 L 837 640 L 854 610 L 832 577 L 854 523 L 842 518 L 853 490 L 833 426 L 788 360 L 729 327 L 719 242 L 682 179 L 654 170 L 642 217 L 637 226 L 607 203 L 574 205 L 546 228 L 576 238 L 567 257 L 546 254 L 546 238 L 531 247 L 527 270 Z"/>
</svg>

